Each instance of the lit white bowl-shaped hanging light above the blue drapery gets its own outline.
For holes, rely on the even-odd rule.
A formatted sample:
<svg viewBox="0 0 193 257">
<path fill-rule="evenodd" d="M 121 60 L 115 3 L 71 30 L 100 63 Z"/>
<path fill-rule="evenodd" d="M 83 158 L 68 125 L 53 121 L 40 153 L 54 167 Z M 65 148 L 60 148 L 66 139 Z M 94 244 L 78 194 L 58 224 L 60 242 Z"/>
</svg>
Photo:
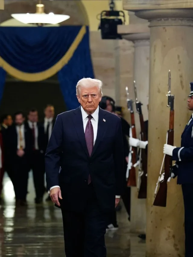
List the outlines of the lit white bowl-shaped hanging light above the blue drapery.
<svg viewBox="0 0 193 257">
<path fill-rule="evenodd" d="M 64 14 L 54 14 L 52 12 L 46 14 L 41 0 L 39 0 L 39 4 L 36 5 L 36 13 L 17 13 L 11 14 L 11 16 L 22 23 L 38 24 L 39 26 L 42 24 L 58 24 L 70 18 L 69 15 Z"/>
</svg>

